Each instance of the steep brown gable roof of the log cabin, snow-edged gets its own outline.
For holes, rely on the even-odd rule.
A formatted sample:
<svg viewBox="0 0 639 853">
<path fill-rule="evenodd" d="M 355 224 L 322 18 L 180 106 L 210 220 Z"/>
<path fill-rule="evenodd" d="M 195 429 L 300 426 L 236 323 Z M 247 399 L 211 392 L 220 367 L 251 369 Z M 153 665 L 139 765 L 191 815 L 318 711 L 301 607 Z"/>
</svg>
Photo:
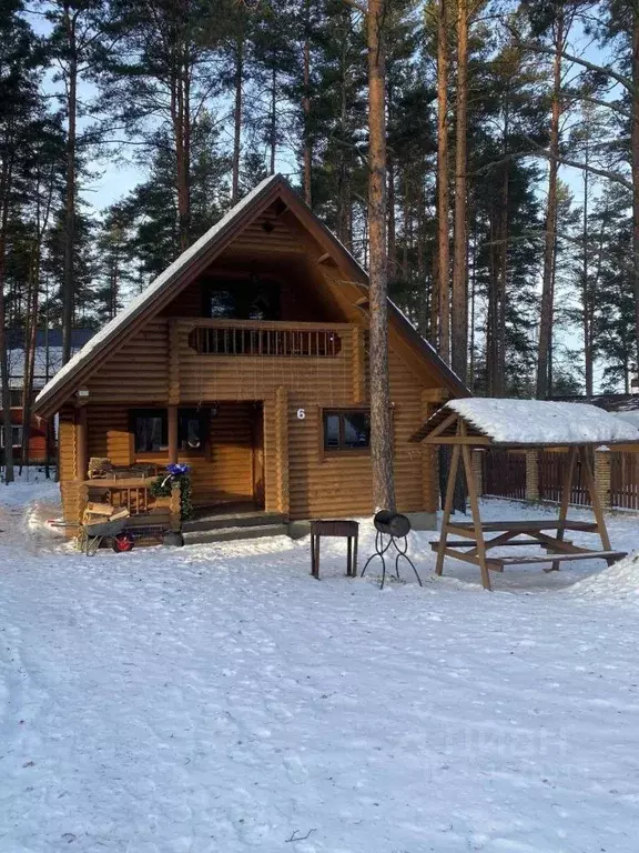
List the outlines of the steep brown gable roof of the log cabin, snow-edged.
<svg viewBox="0 0 639 853">
<path fill-rule="evenodd" d="M 186 249 L 173 261 L 154 281 L 149 284 L 129 305 L 104 325 L 42 389 L 34 402 L 34 411 L 48 415 L 57 411 L 59 405 L 73 393 L 92 368 L 97 367 L 100 357 L 115 347 L 125 337 L 132 324 L 138 320 L 150 318 L 163 308 L 185 283 L 186 275 L 191 278 L 204 270 L 220 254 L 244 227 L 260 212 L 274 201 L 281 199 L 292 210 L 303 224 L 313 224 L 320 230 L 325 242 L 341 257 L 355 274 L 362 288 L 367 287 L 368 277 L 362 265 L 355 260 L 346 247 L 333 234 L 326 225 L 313 213 L 305 202 L 293 191 L 290 183 L 281 174 L 274 174 L 258 183 L 245 195 L 226 215 L 209 229 L 193 245 Z M 429 362 L 443 384 L 454 394 L 468 395 L 469 391 L 429 344 L 416 331 L 408 319 L 389 300 L 390 319 L 396 322 L 402 333 L 418 348 L 420 354 Z"/>
</svg>

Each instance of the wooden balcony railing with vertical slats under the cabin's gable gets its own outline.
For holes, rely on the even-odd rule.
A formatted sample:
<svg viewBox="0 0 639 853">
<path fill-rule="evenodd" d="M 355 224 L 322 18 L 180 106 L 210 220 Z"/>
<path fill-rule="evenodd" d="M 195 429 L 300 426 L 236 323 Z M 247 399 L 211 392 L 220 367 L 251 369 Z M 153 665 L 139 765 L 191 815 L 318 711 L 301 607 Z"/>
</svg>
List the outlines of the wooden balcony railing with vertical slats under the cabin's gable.
<svg viewBox="0 0 639 853">
<path fill-rule="evenodd" d="M 345 327 L 346 328 L 346 327 Z M 189 345 L 201 355 L 257 355 L 335 358 L 342 352 L 336 328 L 297 327 L 282 323 L 237 323 L 196 325 L 189 333 Z"/>
</svg>

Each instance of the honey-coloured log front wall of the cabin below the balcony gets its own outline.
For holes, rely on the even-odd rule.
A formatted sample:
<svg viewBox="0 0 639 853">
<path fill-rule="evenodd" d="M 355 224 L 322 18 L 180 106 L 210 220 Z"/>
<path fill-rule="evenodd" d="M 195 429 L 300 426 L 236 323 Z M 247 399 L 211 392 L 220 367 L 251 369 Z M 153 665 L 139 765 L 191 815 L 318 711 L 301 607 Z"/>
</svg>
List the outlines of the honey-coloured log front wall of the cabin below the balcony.
<svg viewBox="0 0 639 853">
<path fill-rule="evenodd" d="M 192 465 L 195 502 L 250 500 L 253 493 L 251 412 L 253 401 L 262 401 L 265 509 L 282 511 L 286 504 L 278 462 L 286 453 L 292 519 L 369 514 L 373 509 L 369 458 L 331 456 L 324 454 L 322 448 L 322 409 L 365 404 L 365 330 L 343 324 L 338 331 L 342 347 L 336 357 L 260 358 L 200 355 L 189 347 L 189 325 L 169 318 L 153 320 L 89 380 L 89 455 L 106 456 L 119 465 L 136 461 L 129 433 L 131 408 L 217 403 L 220 417 L 213 419 L 211 433 L 211 445 L 217 448 L 213 458 L 181 454 L 180 461 Z M 179 344 L 178 360 L 170 347 L 171 340 Z M 282 393 L 277 397 L 278 388 L 286 391 L 285 444 L 281 420 L 283 398 Z M 425 391 L 424 379 L 392 350 L 396 493 L 398 509 L 405 512 L 434 511 L 437 501 L 436 465 L 429 464 L 429 456 L 422 448 L 408 443 L 423 422 Z M 241 405 L 232 410 L 229 407 L 233 401 Z M 304 409 L 304 420 L 297 418 L 298 409 Z M 63 417 L 63 479 L 75 475 L 68 463 L 73 438 L 73 430 L 69 431 L 68 426 L 68 417 L 67 420 Z M 144 455 L 138 461 L 164 465 L 168 459 L 162 453 Z M 74 500 L 69 492 L 65 501 L 72 513 Z"/>
</svg>

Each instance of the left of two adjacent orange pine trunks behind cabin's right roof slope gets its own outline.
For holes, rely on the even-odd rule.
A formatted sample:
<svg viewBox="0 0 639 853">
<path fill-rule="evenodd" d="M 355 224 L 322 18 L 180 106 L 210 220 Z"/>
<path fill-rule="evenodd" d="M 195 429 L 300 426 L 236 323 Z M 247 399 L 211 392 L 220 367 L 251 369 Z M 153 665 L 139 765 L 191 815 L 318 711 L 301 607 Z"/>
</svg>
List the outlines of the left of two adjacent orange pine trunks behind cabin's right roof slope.
<svg viewBox="0 0 639 853">
<path fill-rule="evenodd" d="M 439 354 L 450 363 L 450 205 L 448 189 L 448 0 L 437 8 L 437 294 Z M 434 341 L 437 329 L 430 330 Z"/>
</svg>

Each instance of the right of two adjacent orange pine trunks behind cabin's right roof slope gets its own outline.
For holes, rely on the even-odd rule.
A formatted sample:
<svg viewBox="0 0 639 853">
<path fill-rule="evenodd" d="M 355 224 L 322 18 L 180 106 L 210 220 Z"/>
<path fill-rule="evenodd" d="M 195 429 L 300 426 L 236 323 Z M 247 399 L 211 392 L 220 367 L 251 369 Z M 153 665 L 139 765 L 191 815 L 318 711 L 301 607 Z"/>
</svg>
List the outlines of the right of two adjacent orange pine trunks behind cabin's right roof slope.
<svg viewBox="0 0 639 853">
<path fill-rule="evenodd" d="M 468 370 L 468 229 L 466 207 L 468 194 L 467 140 L 468 130 L 468 0 L 457 0 L 457 104 L 455 148 L 455 244 L 453 252 L 453 370 L 466 382 Z"/>
</svg>

